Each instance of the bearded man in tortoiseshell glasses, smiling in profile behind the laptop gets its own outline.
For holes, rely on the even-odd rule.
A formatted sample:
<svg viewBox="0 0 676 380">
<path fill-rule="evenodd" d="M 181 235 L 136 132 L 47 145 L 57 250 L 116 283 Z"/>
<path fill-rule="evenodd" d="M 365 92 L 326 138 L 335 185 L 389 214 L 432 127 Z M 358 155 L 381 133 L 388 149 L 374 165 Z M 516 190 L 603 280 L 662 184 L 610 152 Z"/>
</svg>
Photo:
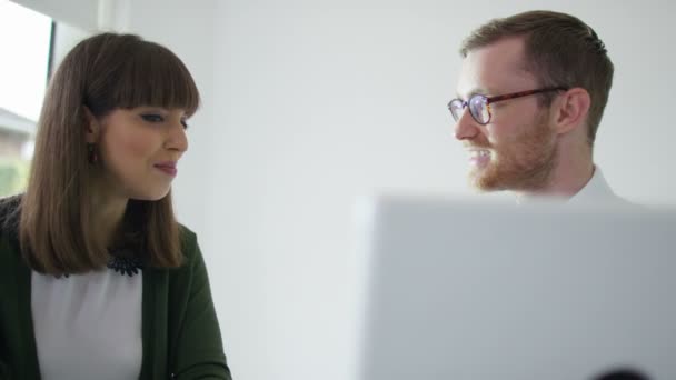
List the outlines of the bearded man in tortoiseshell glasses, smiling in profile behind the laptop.
<svg viewBox="0 0 676 380">
<path fill-rule="evenodd" d="M 520 201 L 624 202 L 593 160 L 614 68 L 589 26 L 565 13 L 519 13 L 475 30 L 460 53 L 458 99 L 448 108 L 476 188 L 511 190 Z"/>
</svg>

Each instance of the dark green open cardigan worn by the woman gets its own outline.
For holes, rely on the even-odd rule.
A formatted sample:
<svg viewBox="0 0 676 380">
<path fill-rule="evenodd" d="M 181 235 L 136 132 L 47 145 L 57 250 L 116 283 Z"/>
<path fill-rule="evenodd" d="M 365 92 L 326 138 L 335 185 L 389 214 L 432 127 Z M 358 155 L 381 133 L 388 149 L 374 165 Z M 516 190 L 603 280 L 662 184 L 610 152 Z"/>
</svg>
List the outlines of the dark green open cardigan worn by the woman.
<svg viewBox="0 0 676 380">
<path fill-rule="evenodd" d="M 0 203 L 3 200 L 0 200 Z M 40 379 L 31 309 L 31 269 L 0 207 L 0 379 Z M 209 279 L 196 234 L 185 227 L 185 263 L 143 269 L 140 379 L 227 379 Z"/>
</svg>

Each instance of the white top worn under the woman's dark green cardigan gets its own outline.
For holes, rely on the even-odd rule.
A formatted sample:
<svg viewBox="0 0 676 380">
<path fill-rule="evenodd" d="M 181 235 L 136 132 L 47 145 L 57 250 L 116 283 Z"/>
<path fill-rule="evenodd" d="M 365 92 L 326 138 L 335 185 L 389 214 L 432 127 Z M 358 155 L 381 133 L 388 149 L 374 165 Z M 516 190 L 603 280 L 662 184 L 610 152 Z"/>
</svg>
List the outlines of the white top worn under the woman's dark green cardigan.
<svg viewBox="0 0 676 380">
<path fill-rule="evenodd" d="M 60 279 L 33 272 L 31 297 L 42 379 L 138 379 L 141 272 L 106 269 Z"/>
</svg>

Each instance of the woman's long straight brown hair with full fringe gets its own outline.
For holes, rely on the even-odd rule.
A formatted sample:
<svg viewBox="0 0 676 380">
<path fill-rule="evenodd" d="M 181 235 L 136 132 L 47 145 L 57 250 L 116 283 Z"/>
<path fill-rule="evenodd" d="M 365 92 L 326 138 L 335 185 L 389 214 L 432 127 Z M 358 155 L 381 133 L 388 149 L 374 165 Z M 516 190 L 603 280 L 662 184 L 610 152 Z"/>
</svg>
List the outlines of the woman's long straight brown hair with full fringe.
<svg viewBox="0 0 676 380">
<path fill-rule="evenodd" d="M 108 247 L 92 239 L 91 183 L 100 166 L 88 159 L 87 112 L 99 119 L 141 106 L 179 108 L 187 116 L 199 107 L 190 72 L 167 48 L 138 36 L 101 33 L 66 56 L 44 96 L 20 206 L 19 240 L 32 269 L 60 276 L 107 264 Z M 130 200 L 123 229 L 147 264 L 180 266 L 171 192 L 158 201 Z"/>
</svg>

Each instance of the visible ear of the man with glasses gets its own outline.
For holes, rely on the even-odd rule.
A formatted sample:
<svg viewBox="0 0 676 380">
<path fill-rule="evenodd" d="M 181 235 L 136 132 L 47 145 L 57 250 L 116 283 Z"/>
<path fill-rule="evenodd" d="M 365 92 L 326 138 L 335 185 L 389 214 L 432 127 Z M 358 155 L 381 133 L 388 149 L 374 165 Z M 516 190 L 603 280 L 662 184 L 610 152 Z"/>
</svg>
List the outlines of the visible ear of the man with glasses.
<svg viewBox="0 0 676 380">
<path fill-rule="evenodd" d="M 551 114 L 553 123 L 558 134 L 568 133 L 574 129 L 584 128 L 592 98 L 587 90 L 576 87 L 564 92 L 555 100 L 555 112 Z"/>
</svg>

